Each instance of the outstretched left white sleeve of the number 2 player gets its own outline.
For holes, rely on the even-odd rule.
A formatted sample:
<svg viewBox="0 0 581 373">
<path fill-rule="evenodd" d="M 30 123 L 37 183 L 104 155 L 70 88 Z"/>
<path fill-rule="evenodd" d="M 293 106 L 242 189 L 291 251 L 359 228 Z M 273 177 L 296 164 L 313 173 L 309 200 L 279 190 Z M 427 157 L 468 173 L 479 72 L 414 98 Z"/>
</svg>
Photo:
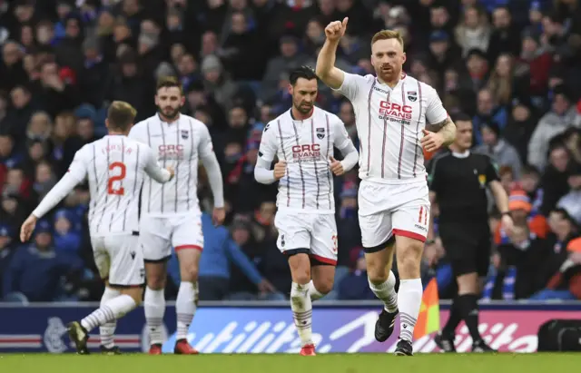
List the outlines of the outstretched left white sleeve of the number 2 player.
<svg viewBox="0 0 581 373">
<path fill-rule="evenodd" d="M 43 201 L 41 201 L 36 209 L 33 211 L 33 215 L 36 218 L 42 218 L 48 211 L 54 209 L 60 201 L 63 201 L 74 187 L 83 182 L 87 176 L 87 163 L 89 162 L 88 156 L 86 155 L 86 149 L 88 145 L 85 145 L 78 152 L 74 154 L 73 162 L 69 166 L 68 171 L 64 174 L 63 178 L 54 185 L 53 189 L 46 193 Z"/>
</svg>

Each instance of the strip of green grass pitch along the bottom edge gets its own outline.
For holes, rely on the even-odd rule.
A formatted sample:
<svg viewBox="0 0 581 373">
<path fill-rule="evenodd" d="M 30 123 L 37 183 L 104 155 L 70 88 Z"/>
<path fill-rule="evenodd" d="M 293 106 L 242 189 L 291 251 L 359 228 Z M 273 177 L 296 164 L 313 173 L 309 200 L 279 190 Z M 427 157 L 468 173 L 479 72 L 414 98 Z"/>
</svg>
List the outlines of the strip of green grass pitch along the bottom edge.
<svg viewBox="0 0 581 373">
<path fill-rule="evenodd" d="M 76 356 L 0 355 L 5 373 L 565 373 L 578 371 L 578 354 L 391 354 Z"/>
</svg>

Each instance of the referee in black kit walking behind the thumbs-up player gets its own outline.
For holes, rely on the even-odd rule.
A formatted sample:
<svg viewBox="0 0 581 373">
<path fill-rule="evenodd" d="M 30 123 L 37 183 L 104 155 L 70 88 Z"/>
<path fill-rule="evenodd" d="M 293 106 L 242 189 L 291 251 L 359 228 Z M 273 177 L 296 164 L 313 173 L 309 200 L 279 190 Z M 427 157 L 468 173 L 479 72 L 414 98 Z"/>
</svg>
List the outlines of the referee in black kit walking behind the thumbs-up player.
<svg viewBox="0 0 581 373">
<path fill-rule="evenodd" d="M 487 155 L 470 152 L 472 120 L 466 114 L 458 114 L 454 123 L 456 141 L 449 146 L 449 152 L 432 160 L 428 178 L 429 200 L 438 203 L 439 208 L 439 240 L 434 237 L 431 221 L 426 255 L 433 259 L 434 253 L 443 248 L 458 282 L 458 297 L 435 341 L 442 350 L 456 352 L 456 328 L 464 319 L 473 340 L 472 351 L 488 352 L 493 349 L 478 332 L 478 298 L 491 254 L 487 189 L 492 191 L 502 213 L 505 230 L 512 230 L 513 221 L 508 212 L 507 192 L 499 182 L 492 160 Z"/>
</svg>

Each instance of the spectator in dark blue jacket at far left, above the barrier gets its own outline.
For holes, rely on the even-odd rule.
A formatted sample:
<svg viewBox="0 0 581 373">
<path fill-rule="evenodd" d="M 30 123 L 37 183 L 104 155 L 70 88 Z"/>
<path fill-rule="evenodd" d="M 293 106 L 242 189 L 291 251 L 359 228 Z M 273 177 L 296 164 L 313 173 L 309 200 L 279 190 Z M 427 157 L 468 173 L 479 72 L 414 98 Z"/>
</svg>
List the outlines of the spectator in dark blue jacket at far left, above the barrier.
<svg viewBox="0 0 581 373">
<path fill-rule="evenodd" d="M 51 224 L 36 224 L 34 242 L 16 250 L 5 273 L 4 296 L 14 292 L 29 301 L 53 301 L 63 295 L 63 277 L 83 269 L 81 260 L 54 250 Z"/>
</svg>

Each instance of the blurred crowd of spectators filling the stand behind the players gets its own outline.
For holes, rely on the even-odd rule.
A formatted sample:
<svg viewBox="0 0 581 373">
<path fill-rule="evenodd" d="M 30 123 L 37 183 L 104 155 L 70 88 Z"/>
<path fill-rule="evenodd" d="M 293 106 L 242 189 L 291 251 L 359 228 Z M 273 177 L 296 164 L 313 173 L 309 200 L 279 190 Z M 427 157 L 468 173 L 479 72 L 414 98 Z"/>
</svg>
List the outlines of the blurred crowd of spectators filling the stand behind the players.
<svg viewBox="0 0 581 373">
<path fill-rule="evenodd" d="M 288 73 L 315 65 L 324 27 L 350 17 L 338 66 L 372 74 L 370 36 L 404 36 L 406 72 L 431 84 L 450 113 L 473 116 L 474 151 L 498 164 L 517 224 L 491 219 L 485 299 L 581 299 L 581 1 L 579 0 L 0 0 L 0 299 L 97 300 L 81 185 L 36 229 L 20 224 L 106 133 L 113 100 L 137 120 L 155 113 L 155 81 L 181 80 L 182 113 L 209 127 L 227 222 L 204 218 L 202 299 L 281 299 L 290 271 L 275 245 L 276 186 L 254 182 L 265 123 L 288 110 Z M 349 101 L 320 86 L 358 145 Z M 427 154 L 428 157 L 433 154 Z M 335 180 L 339 267 L 331 299 L 374 299 L 361 260 L 356 171 Z M 211 207 L 204 181 L 202 208 Z M 493 209 L 491 207 L 491 209 Z M 437 210 L 437 209 L 436 209 Z M 437 228 L 437 227 L 436 227 Z M 170 261 L 166 294 L 179 285 Z M 424 276 L 454 291 L 445 248 Z"/>
</svg>

